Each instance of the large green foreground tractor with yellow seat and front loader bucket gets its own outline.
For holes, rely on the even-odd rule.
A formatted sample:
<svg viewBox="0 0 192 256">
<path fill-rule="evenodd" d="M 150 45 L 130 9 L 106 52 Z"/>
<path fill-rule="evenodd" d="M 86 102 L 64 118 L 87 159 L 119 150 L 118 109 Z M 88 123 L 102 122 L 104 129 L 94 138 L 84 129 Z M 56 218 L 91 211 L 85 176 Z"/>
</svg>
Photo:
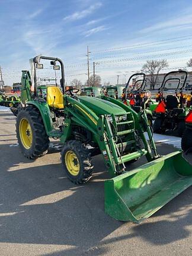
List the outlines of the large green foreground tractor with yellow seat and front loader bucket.
<svg viewBox="0 0 192 256">
<path fill-rule="evenodd" d="M 44 95 L 37 92 L 41 60 L 61 71 L 60 85 L 47 86 Z M 78 89 L 65 91 L 64 66 L 58 58 L 37 56 L 33 65 L 33 74 L 22 72 L 16 121 L 18 143 L 27 158 L 43 156 L 49 138 L 58 138 L 63 145 L 63 171 L 73 183 L 84 184 L 94 171 L 92 156 L 101 154 L 111 177 L 104 184 L 105 212 L 117 220 L 139 223 L 190 187 L 191 165 L 181 152 L 158 155 L 145 110 L 104 95 L 95 98 L 78 96 Z M 126 165 L 141 156 L 148 163 L 126 171 Z"/>
</svg>

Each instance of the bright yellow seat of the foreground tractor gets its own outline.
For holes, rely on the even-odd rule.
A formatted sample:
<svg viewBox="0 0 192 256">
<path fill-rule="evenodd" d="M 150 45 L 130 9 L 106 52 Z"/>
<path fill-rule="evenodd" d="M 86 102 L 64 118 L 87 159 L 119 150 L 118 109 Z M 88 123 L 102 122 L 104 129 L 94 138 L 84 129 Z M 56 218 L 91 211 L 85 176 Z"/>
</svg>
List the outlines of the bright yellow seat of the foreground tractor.
<svg viewBox="0 0 192 256">
<path fill-rule="evenodd" d="M 63 94 L 59 87 L 47 87 L 47 103 L 52 108 L 64 108 Z"/>
</svg>

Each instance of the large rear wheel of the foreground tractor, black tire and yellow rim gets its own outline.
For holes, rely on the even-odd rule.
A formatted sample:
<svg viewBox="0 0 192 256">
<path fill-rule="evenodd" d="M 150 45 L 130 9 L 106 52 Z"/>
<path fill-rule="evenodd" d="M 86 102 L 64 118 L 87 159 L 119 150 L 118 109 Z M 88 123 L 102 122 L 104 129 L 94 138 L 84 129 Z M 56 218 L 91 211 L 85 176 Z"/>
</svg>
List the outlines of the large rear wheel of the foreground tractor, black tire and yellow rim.
<svg viewBox="0 0 192 256">
<path fill-rule="evenodd" d="M 49 136 L 47 136 L 43 119 L 36 107 L 28 105 L 18 112 L 16 133 L 25 157 L 35 159 L 47 153 Z"/>
</svg>

